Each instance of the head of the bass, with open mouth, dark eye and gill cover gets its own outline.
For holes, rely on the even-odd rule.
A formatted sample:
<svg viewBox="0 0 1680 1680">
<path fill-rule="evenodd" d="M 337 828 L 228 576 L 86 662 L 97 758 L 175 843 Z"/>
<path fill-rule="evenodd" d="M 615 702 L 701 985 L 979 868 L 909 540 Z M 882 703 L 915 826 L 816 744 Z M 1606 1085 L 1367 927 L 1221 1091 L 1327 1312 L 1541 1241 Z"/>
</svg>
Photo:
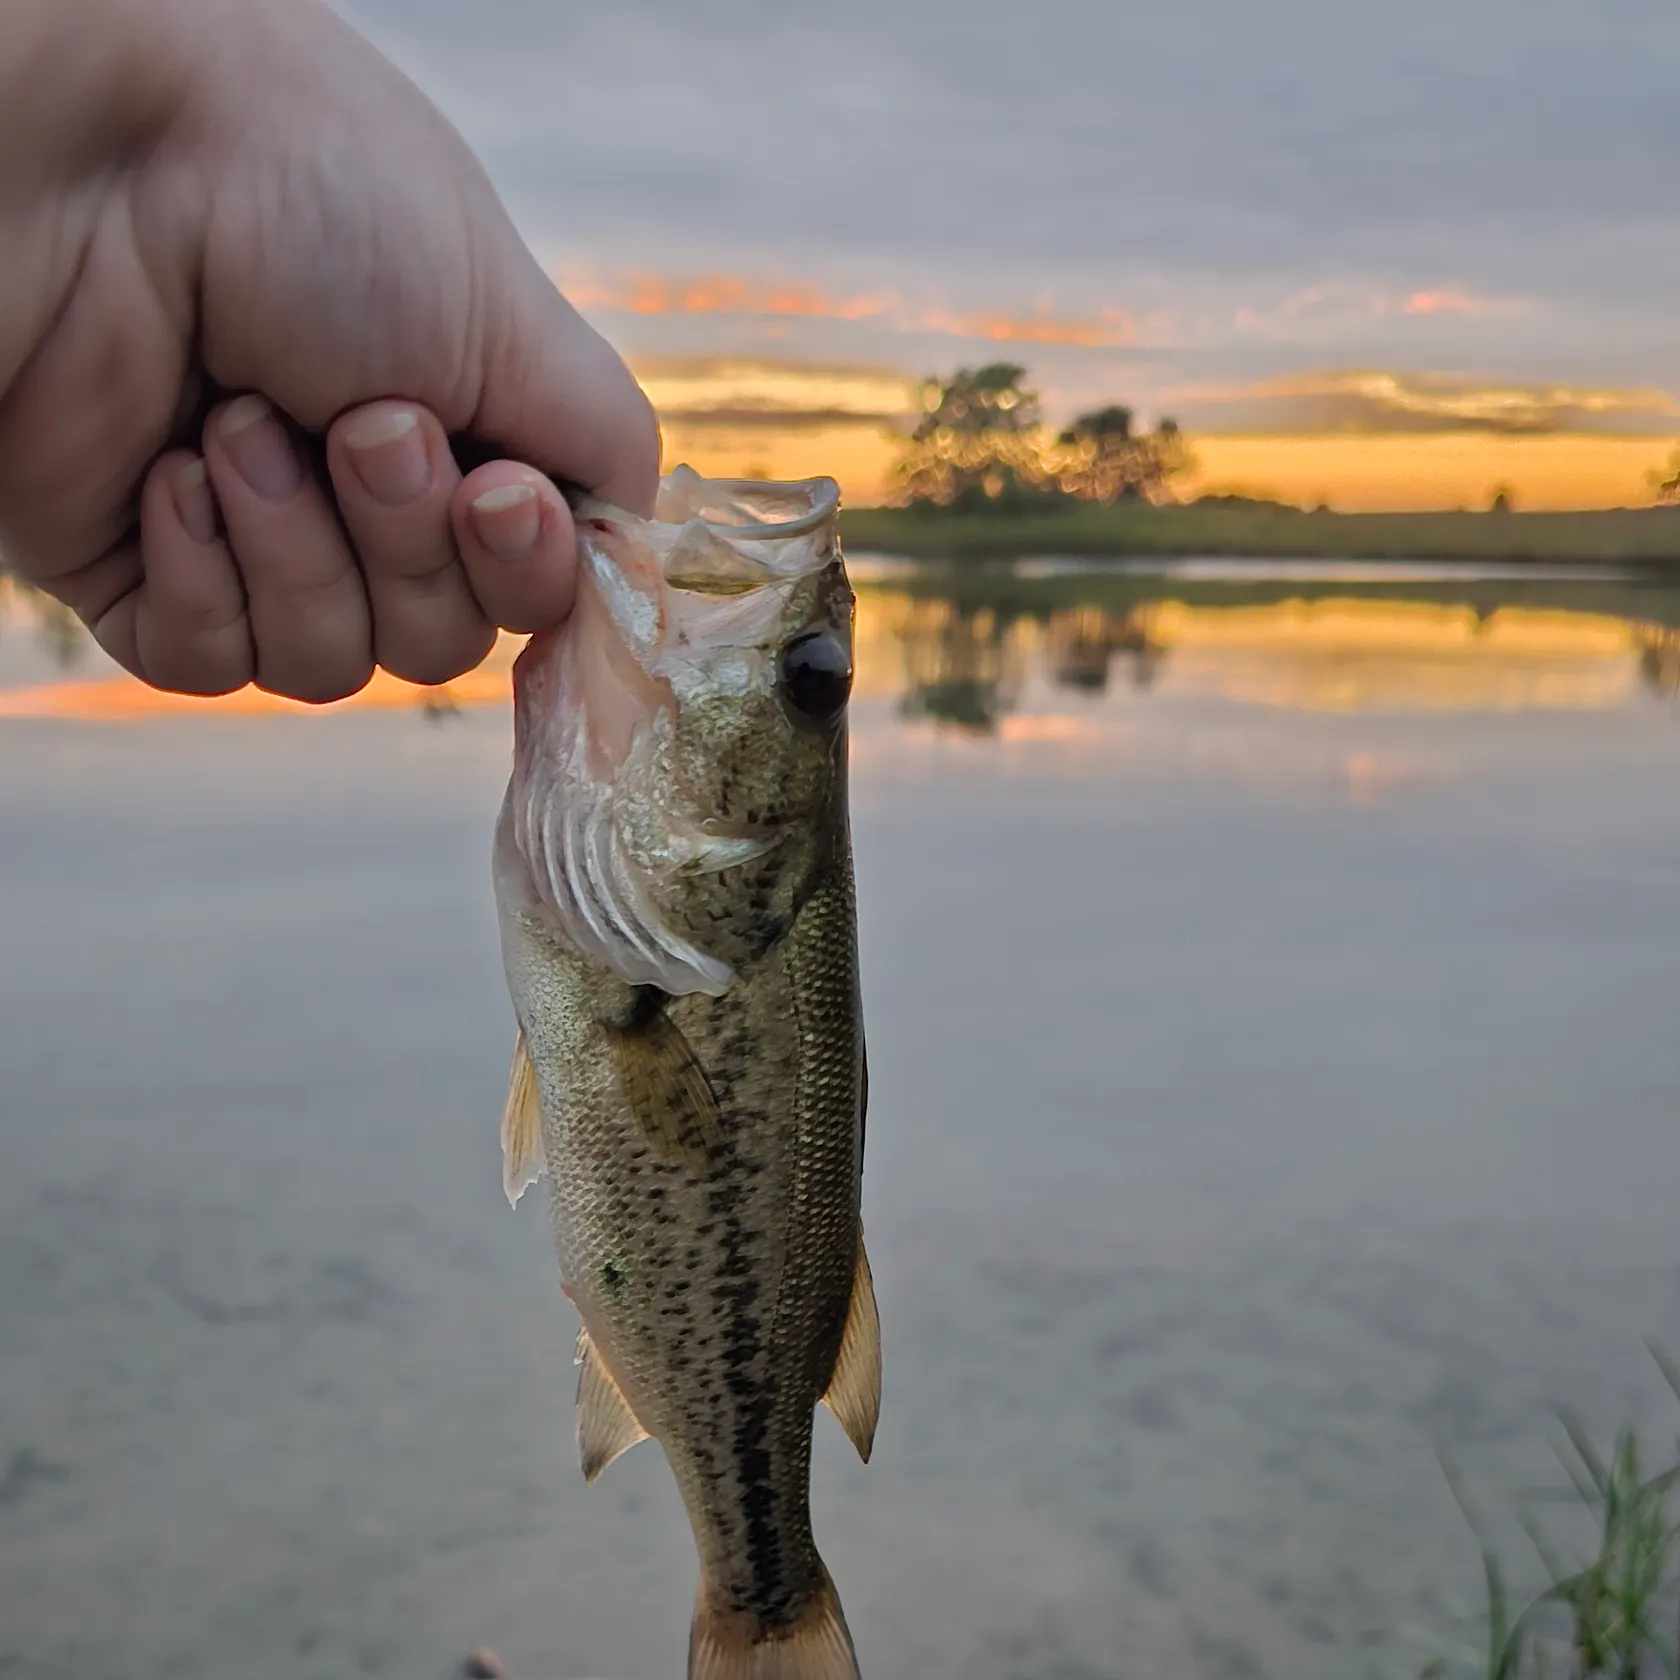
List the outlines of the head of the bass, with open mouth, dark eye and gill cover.
<svg viewBox="0 0 1680 1680">
<path fill-rule="evenodd" d="M 630 984 L 724 991 L 845 845 L 837 514 L 832 479 L 684 467 L 652 519 L 576 509 L 576 605 L 514 670 L 497 885 Z"/>
</svg>

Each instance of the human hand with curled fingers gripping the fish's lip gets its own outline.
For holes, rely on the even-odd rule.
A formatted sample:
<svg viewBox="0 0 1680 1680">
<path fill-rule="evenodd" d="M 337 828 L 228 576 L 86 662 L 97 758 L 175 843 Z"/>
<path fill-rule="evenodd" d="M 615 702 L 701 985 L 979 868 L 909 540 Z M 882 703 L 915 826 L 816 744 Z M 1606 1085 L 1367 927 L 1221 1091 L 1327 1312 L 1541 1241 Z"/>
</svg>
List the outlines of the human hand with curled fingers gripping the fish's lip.
<svg viewBox="0 0 1680 1680">
<path fill-rule="evenodd" d="M 13 3 L 7 563 L 193 694 L 445 682 L 563 618 L 548 474 L 647 512 L 659 433 L 444 118 L 316 0 Z"/>
</svg>

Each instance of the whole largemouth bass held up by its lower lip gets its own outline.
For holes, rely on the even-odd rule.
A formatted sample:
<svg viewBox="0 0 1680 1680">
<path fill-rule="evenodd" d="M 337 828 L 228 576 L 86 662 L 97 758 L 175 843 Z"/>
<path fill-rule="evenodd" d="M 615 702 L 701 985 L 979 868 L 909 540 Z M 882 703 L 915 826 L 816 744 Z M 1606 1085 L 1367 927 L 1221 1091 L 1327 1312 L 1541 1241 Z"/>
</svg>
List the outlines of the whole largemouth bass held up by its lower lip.
<svg viewBox="0 0 1680 1680">
<path fill-rule="evenodd" d="M 810 1509 L 818 1403 L 867 1463 L 882 1381 L 838 487 L 677 467 L 575 524 L 496 827 L 504 1186 L 548 1179 L 583 1475 L 677 1482 L 690 1680 L 857 1680 Z"/>
</svg>

